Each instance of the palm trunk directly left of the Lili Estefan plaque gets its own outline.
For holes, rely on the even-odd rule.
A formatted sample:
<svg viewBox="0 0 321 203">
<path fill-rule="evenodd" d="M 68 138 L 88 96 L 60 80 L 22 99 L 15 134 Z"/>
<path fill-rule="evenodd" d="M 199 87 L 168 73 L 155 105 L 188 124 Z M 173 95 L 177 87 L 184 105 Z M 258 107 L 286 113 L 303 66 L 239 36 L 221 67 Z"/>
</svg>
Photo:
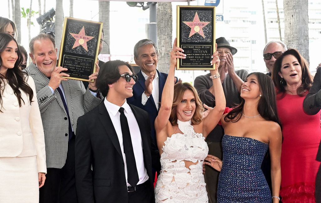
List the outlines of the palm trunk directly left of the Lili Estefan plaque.
<svg viewBox="0 0 321 203">
<path fill-rule="evenodd" d="M 160 72 L 169 72 L 169 52 L 172 50 L 172 3 L 157 3 L 158 65 Z"/>
</svg>

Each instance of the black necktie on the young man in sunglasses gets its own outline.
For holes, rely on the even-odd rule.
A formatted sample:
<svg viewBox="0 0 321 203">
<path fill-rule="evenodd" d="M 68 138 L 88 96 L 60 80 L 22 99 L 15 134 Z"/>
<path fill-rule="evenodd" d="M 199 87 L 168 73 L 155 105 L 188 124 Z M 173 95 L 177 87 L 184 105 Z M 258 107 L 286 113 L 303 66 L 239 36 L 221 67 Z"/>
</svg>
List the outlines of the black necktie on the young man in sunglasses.
<svg viewBox="0 0 321 203">
<path fill-rule="evenodd" d="M 128 121 L 126 115 L 124 114 L 124 108 L 120 107 L 118 111 L 120 112 L 120 126 L 123 134 L 124 153 L 126 157 L 127 181 L 131 186 L 135 187 L 139 181 L 139 177 L 136 168 L 136 161 L 134 156 L 133 144 L 130 137 Z"/>
</svg>

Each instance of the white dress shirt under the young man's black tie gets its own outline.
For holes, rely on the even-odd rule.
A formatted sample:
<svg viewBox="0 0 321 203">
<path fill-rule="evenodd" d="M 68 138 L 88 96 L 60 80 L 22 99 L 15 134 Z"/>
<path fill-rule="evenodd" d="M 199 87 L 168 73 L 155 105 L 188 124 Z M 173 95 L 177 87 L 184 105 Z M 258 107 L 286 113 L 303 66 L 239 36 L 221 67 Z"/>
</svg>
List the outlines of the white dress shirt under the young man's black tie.
<svg viewBox="0 0 321 203">
<path fill-rule="evenodd" d="M 149 177 L 147 175 L 147 171 L 144 166 L 142 137 L 141 137 L 138 123 L 136 121 L 136 118 L 133 114 L 132 109 L 127 104 L 127 100 L 123 104 L 123 106 L 117 106 L 115 104 L 112 104 L 109 101 L 107 101 L 107 99 L 104 99 L 104 104 L 105 104 L 108 114 L 110 116 L 111 122 L 114 125 L 115 131 L 117 133 L 117 137 L 119 140 L 120 149 L 121 149 L 124 163 L 125 163 L 125 176 L 126 176 L 127 186 L 130 186 L 130 184 L 128 183 L 128 180 L 127 180 L 126 156 L 124 153 L 123 134 L 121 131 L 121 126 L 120 126 L 120 112 L 118 111 L 120 107 L 123 107 L 125 109 L 124 114 L 126 115 L 126 118 L 128 121 L 130 137 L 132 140 L 134 156 L 135 156 L 135 161 L 136 161 L 136 168 L 137 168 L 138 177 L 139 177 L 139 181 L 138 181 L 137 185 L 146 182 Z"/>
</svg>

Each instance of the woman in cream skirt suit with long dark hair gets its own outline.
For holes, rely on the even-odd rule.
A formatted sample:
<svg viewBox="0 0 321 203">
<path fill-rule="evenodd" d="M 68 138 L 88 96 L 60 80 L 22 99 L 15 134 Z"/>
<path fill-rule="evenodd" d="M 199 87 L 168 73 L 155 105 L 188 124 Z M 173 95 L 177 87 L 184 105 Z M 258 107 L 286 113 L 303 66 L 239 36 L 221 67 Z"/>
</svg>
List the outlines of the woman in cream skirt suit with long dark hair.
<svg viewBox="0 0 321 203">
<path fill-rule="evenodd" d="M 47 173 L 34 81 L 16 40 L 0 33 L 0 202 L 39 202 Z"/>
</svg>

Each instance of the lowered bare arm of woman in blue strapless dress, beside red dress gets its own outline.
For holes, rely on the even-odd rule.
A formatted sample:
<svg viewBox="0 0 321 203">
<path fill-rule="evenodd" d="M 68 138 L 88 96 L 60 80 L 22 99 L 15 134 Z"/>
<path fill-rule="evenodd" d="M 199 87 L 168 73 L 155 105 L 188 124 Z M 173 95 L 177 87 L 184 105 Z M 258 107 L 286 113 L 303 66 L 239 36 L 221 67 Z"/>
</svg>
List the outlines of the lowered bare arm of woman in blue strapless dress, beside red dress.
<svg viewBox="0 0 321 203">
<path fill-rule="evenodd" d="M 281 186 L 281 145 L 282 145 L 282 132 L 277 123 L 271 127 L 269 133 L 269 151 L 271 156 L 271 180 L 272 180 L 272 196 L 280 196 Z M 279 202 L 278 199 L 273 198 L 273 203 Z"/>
</svg>

